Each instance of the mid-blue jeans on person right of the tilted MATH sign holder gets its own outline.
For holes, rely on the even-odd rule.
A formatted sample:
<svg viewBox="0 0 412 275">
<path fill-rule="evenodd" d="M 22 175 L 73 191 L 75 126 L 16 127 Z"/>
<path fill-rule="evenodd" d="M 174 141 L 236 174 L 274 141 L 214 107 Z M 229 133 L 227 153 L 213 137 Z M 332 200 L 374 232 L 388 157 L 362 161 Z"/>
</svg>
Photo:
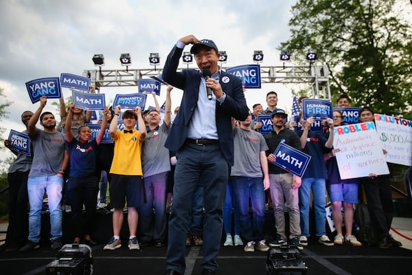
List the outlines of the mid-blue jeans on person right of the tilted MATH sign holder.
<svg viewBox="0 0 412 275">
<path fill-rule="evenodd" d="M 315 177 L 305 177 L 302 179 L 302 185 L 299 188 L 299 208 L 301 214 L 301 234 L 309 234 L 309 210 L 310 210 L 310 190 L 312 189 L 314 221 L 316 225 L 316 235 L 326 234 L 326 187 L 325 179 Z"/>
</svg>

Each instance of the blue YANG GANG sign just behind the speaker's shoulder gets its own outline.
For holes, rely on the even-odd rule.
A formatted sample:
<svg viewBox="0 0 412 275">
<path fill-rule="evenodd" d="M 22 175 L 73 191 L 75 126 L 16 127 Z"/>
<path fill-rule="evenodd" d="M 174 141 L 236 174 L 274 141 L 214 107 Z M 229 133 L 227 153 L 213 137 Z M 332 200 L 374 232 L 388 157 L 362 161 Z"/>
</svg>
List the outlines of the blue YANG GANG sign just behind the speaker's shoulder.
<svg viewBox="0 0 412 275">
<path fill-rule="evenodd" d="M 259 64 L 231 67 L 226 72 L 242 79 L 242 84 L 247 89 L 260 89 L 262 87 Z"/>
</svg>

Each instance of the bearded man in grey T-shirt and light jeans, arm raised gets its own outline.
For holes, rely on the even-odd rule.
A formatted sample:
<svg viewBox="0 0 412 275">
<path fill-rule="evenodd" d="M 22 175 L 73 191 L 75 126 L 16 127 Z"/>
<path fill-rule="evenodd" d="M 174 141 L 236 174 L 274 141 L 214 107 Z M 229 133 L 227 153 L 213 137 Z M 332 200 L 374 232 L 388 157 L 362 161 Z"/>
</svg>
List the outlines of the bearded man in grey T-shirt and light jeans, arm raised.
<svg viewBox="0 0 412 275">
<path fill-rule="evenodd" d="M 29 236 L 27 243 L 20 252 L 37 249 L 40 247 L 41 233 L 41 208 L 45 190 L 50 211 L 50 233 L 52 234 L 52 248 L 59 250 L 62 247 L 62 189 L 63 175 L 69 164 L 69 151 L 67 151 L 65 136 L 56 131 L 56 119 L 53 113 L 45 111 L 47 98 L 42 96 L 40 106 L 34 112 L 27 124 L 27 132 L 33 144 L 33 162 L 27 180 L 29 194 Z M 43 130 L 37 129 L 36 124 L 40 118 Z"/>
</svg>

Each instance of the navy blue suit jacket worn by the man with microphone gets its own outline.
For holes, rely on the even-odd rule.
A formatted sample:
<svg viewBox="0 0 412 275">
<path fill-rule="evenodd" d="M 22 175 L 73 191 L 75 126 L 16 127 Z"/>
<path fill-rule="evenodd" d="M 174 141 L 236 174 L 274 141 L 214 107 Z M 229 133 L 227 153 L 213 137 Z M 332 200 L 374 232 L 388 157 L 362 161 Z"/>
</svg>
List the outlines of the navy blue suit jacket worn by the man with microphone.
<svg viewBox="0 0 412 275">
<path fill-rule="evenodd" d="M 194 69 L 184 69 L 176 72 L 179 66 L 183 49 L 174 46 L 168 55 L 162 78 L 170 85 L 183 90 L 183 97 L 176 118 L 168 134 L 165 146 L 172 151 L 177 151 L 185 144 L 187 138 L 187 127 L 198 101 L 201 74 Z M 222 83 L 222 78 L 227 76 L 229 81 Z M 249 109 L 244 99 L 242 80 L 233 74 L 221 72 L 220 85 L 226 94 L 225 102 L 220 104 L 216 100 L 216 127 L 218 129 L 220 150 L 230 166 L 233 166 L 233 133 L 231 128 L 231 117 L 236 120 L 245 120 L 249 115 Z"/>
</svg>

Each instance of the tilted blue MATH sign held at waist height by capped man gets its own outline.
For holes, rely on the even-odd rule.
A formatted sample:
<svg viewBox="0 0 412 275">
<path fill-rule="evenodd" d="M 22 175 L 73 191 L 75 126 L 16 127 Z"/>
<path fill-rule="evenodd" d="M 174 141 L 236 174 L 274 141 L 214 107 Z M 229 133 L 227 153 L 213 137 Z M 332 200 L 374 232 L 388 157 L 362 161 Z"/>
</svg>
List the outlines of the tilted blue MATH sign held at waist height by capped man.
<svg viewBox="0 0 412 275">
<path fill-rule="evenodd" d="M 279 143 L 273 154 L 276 157 L 276 162 L 272 162 L 273 164 L 298 177 L 304 175 L 310 162 L 310 155 L 284 144 L 284 142 Z"/>
</svg>

